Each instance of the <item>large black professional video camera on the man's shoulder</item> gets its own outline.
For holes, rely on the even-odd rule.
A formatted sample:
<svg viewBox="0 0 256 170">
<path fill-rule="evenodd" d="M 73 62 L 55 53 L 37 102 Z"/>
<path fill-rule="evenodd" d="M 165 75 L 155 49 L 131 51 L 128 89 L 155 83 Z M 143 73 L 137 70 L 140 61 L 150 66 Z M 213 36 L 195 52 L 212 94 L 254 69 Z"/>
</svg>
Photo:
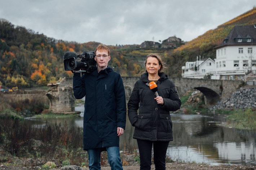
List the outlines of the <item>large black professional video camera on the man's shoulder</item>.
<svg viewBox="0 0 256 170">
<path fill-rule="evenodd" d="M 97 66 L 94 58 L 94 51 L 84 51 L 79 55 L 71 51 L 65 52 L 63 55 L 64 68 L 66 71 L 78 70 L 78 73 L 91 73 Z"/>
</svg>

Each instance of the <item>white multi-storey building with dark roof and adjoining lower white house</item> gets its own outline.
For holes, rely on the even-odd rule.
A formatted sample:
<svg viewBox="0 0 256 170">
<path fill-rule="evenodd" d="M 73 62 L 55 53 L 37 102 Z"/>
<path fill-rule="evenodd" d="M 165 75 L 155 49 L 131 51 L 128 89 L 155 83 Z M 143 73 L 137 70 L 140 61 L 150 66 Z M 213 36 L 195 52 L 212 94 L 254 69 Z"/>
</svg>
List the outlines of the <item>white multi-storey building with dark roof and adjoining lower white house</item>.
<svg viewBox="0 0 256 170">
<path fill-rule="evenodd" d="M 215 62 L 207 59 L 211 66 L 201 63 L 195 73 L 186 72 L 186 66 L 182 66 L 182 77 L 204 78 L 211 75 L 211 79 L 245 80 L 256 74 L 256 25 L 235 26 L 215 49 Z"/>
</svg>

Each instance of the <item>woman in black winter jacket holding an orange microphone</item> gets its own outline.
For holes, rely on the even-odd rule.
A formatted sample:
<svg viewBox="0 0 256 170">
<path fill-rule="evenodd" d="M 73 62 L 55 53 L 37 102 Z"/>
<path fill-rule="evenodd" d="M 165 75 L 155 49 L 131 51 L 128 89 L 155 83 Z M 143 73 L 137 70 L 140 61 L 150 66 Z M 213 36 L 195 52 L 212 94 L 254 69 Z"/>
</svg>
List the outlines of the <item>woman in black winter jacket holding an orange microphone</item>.
<svg viewBox="0 0 256 170">
<path fill-rule="evenodd" d="M 164 65 L 159 55 L 147 55 L 146 73 L 134 84 L 128 102 L 128 117 L 135 127 L 133 138 L 137 139 L 140 153 L 140 170 L 151 169 L 152 145 L 155 169 L 165 170 L 166 151 L 169 141 L 173 141 L 169 111 L 180 109 L 181 101 L 174 83 L 163 73 Z M 159 96 L 149 87 L 152 81 Z"/>
</svg>

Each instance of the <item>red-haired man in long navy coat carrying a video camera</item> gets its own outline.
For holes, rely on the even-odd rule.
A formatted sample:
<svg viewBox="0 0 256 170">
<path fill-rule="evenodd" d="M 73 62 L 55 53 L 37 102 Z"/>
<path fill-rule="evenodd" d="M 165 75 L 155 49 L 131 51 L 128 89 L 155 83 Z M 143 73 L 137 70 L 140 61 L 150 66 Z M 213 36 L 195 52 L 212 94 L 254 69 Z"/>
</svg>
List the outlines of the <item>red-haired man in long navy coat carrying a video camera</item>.
<svg viewBox="0 0 256 170">
<path fill-rule="evenodd" d="M 122 77 L 107 66 L 110 49 L 95 49 L 97 69 L 82 76 L 74 72 L 73 91 L 76 99 L 85 96 L 84 150 L 88 151 L 89 169 L 100 170 L 101 151 L 107 151 L 111 170 L 123 170 L 119 137 L 124 133 L 126 103 Z"/>
</svg>

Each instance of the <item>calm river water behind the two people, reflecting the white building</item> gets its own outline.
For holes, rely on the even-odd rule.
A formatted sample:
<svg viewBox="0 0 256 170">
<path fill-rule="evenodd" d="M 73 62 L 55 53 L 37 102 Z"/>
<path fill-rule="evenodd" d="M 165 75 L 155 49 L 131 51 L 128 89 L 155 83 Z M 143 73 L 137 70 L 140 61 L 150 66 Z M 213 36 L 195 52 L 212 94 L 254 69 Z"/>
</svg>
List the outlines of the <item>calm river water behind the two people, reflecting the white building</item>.
<svg viewBox="0 0 256 170">
<path fill-rule="evenodd" d="M 83 127 L 84 106 L 76 106 L 81 111 L 79 118 L 53 119 L 50 123 L 65 121 L 69 126 Z M 176 115 L 173 121 L 173 139 L 169 143 L 167 156 L 174 161 L 219 164 L 256 165 L 256 132 L 222 127 L 222 116 Z M 45 121 L 27 120 L 32 124 Z M 128 116 L 124 134 L 120 137 L 120 150 L 137 150 L 137 141 L 132 138 L 134 127 Z"/>
</svg>

